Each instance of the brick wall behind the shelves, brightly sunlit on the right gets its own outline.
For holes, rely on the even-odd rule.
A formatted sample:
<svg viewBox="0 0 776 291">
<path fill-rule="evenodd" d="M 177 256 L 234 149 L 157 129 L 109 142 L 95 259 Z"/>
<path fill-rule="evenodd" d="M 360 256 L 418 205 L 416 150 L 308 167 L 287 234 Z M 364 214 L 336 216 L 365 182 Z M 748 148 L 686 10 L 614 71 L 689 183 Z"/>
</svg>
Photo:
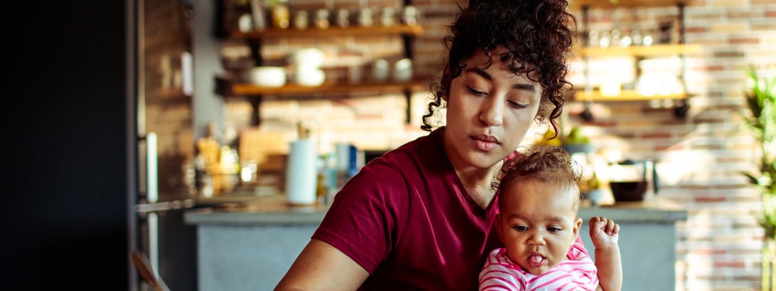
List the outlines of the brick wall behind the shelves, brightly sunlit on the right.
<svg viewBox="0 0 776 291">
<path fill-rule="evenodd" d="M 621 0 L 626 1 L 626 0 Z M 314 9 L 320 2 L 291 0 L 291 5 Z M 330 1 L 329 7 L 357 7 L 359 2 Z M 433 78 L 442 58 L 445 25 L 455 12 L 450 0 L 414 1 L 421 9 L 423 36 L 414 41 L 414 70 Z M 398 1 L 372 1 L 373 7 Z M 462 2 L 466 5 L 466 2 Z M 580 12 L 575 12 L 581 20 Z M 675 8 L 639 9 L 615 13 L 591 11 L 591 28 L 628 29 L 634 23 L 656 23 L 674 17 Z M 618 148 L 627 158 L 652 158 L 660 175 L 658 195 L 684 204 L 689 218 L 678 225 L 677 290 L 758 289 L 763 232 L 750 214 L 760 207 L 759 196 L 747 186 L 739 171 L 752 168 L 757 147 L 744 131 L 741 91 L 743 71 L 753 64 L 764 70 L 776 65 L 776 3 L 773 0 L 694 0 L 685 9 L 686 43 L 702 46 L 686 64 L 688 100 L 684 118 L 675 105 L 650 102 L 598 102 L 591 106 L 595 119 L 579 118 L 583 104 L 568 106 L 564 127 L 581 125 L 598 148 Z M 398 37 L 329 40 L 348 49 L 379 51 L 380 57 L 400 57 Z M 267 43 L 267 58 L 282 57 L 295 46 L 319 43 L 278 41 Z M 338 47 L 327 47 L 337 50 Z M 377 54 L 375 54 L 377 55 Z M 369 61 L 369 60 L 367 60 Z M 578 71 L 579 58 L 575 57 Z M 596 63 L 593 63 L 596 64 Z M 616 66 L 622 70 L 628 61 Z M 601 65 L 598 64 L 596 68 Z M 593 70 L 595 71 L 595 70 Z M 333 72 L 339 78 L 347 72 Z M 580 80 L 575 74 L 574 80 Z M 631 80 L 632 81 L 632 80 Z M 352 95 L 320 99 L 268 100 L 262 103 L 262 130 L 287 133 L 303 122 L 324 140 L 348 141 L 364 149 L 387 149 L 424 135 L 419 130 L 428 92 L 416 92 L 411 102 L 411 123 L 405 123 L 404 95 Z M 251 106 L 240 99 L 227 102 L 227 123 L 238 130 L 248 127 Z M 528 139 L 534 135 L 528 134 Z"/>
</svg>

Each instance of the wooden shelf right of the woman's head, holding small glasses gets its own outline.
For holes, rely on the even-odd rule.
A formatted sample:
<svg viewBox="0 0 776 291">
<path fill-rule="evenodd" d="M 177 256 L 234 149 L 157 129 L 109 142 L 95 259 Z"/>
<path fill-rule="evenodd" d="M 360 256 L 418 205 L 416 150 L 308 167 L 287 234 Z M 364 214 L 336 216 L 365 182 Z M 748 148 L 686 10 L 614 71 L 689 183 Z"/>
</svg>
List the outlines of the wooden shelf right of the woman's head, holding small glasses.
<svg viewBox="0 0 776 291">
<path fill-rule="evenodd" d="M 656 44 L 632 47 L 580 47 L 581 56 L 665 56 L 672 54 L 697 54 L 701 46 L 697 44 Z"/>
</svg>

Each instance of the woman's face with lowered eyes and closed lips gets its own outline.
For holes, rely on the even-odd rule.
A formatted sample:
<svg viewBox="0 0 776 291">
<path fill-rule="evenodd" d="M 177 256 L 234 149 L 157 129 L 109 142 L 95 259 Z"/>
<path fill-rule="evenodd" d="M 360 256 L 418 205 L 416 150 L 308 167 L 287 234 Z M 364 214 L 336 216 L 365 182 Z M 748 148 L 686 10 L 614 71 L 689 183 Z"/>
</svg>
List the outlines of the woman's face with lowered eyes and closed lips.
<svg viewBox="0 0 776 291">
<path fill-rule="evenodd" d="M 453 165 L 492 169 L 520 144 L 539 110 L 542 86 L 514 74 L 494 50 L 482 51 L 452 80 L 447 102 L 445 150 Z M 457 167 L 456 167 L 457 168 Z"/>
</svg>

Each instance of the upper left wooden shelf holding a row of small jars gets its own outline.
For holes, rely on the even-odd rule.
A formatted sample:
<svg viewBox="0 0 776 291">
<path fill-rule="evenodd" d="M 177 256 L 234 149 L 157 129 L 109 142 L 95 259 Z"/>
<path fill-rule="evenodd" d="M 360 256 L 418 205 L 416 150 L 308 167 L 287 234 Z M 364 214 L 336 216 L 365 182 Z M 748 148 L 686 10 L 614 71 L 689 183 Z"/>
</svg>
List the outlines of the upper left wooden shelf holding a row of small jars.
<svg viewBox="0 0 776 291">
<path fill-rule="evenodd" d="M 378 36 L 378 35 L 404 35 L 419 36 L 423 34 L 421 26 L 350 26 L 336 27 L 330 26 L 327 29 L 265 29 L 261 31 L 251 31 L 248 33 L 234 32 L 232 37 L 236 39 L 268 39 L 268 38 L 310 38 L 310 37 L 332 37 L 332 36 Z"/>
</svg>

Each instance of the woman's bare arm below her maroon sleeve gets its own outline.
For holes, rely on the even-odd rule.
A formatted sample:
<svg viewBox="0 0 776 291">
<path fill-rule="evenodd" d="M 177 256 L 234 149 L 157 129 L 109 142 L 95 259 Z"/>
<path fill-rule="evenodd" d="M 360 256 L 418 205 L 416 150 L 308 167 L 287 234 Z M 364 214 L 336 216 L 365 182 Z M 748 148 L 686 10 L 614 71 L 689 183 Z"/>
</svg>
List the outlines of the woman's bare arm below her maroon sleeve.
<svg viewBox="0 0 776 291">
<path fill-rule="evenodd" d="M 368 276 L 369 272 L 348 255 L 313 239 L 275 290 L 355 290 Z"/>
</svg>

